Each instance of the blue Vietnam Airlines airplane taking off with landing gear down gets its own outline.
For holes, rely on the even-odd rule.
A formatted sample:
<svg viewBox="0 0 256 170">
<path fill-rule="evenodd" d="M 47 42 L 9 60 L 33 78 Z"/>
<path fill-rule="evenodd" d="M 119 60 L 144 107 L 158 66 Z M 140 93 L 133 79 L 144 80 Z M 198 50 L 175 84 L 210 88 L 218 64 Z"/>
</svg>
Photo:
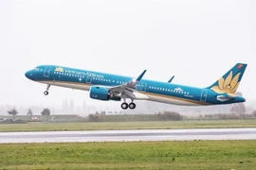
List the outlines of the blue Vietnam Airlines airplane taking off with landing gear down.
<svg viewBox="0 0 256 170">
<path fill-rule="evenodd" d="M 205 88 L 143 79 L 147 70 L 137 78 L 95 71 L 69 68 L 59 65 L 39 65 L 26 72 L 32 81 L 50 86 L 88 91 L 92 99 L 122 101 L 122 110 L 136 109 L 135 100 L 149 100 L 183 106 L 209 106 L 245 102 L 236 94 L 247 68 L 246 63 L 236 63 L 224 76 Z M 127 99 L 130 100 L 127 103 Z"/>
</svg>

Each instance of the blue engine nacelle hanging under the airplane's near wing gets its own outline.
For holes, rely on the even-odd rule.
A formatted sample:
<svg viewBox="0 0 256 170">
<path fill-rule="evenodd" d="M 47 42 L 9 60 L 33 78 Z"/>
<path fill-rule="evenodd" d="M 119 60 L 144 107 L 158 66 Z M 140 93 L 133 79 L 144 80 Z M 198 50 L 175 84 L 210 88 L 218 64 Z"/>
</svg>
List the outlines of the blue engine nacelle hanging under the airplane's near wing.
<svg viewBox="0 0 256 170">
<path fill-rule="evenodd" d="M 120 100 L 119 96 L 111 96 L 109 90 L 101 86 L 92 86 L 90 88 L 90 97 L 97 100 Z"/>
</svg>

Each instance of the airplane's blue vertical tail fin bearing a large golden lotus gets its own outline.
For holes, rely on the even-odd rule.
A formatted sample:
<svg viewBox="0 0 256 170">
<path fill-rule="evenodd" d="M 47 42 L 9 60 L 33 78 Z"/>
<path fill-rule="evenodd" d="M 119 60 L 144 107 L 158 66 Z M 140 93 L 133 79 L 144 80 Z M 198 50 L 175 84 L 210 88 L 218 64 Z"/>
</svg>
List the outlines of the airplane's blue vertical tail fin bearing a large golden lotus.
<svg viewBox="0 0 256 170">
<path fill-rule="evenodd" d="M 246 68 L 247 68 L 246 63 L 235 64 L 229 70 L 229 72 L 227 72 L 224 76 L 220 77 L 216 82 L 214 82 L 207 89 L 210 89 L 216 93 L 235 94 L 239 86 L 239 83 L 246 71 Z"/>
</svg>

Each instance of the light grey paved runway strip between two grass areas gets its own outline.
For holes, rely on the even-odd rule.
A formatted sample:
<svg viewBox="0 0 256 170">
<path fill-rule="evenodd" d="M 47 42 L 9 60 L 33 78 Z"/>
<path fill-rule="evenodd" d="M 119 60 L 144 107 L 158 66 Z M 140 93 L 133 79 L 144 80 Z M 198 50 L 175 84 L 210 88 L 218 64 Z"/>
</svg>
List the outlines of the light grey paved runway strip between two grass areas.
<svg viewBox="0 0 256 170">
<path fill-rule="evenodd" d="M 256 140 L 256 128 L 190 128 L 0 133 L 0 144 L 192 140 Z"/>
</svg>

